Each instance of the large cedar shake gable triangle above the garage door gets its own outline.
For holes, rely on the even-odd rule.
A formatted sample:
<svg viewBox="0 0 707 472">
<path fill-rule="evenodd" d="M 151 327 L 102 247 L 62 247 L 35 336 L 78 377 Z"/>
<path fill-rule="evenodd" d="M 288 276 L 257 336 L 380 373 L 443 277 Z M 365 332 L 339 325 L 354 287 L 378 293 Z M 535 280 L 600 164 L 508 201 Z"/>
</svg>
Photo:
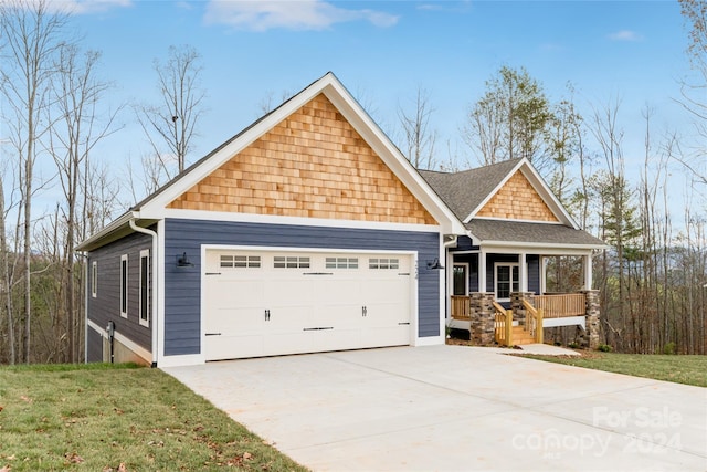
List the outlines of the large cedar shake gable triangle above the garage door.
<svg viewBox="0 0 707 472">
<path fill-rule="evenodd" d="M 323 94 L 168 208 L 436 224 Z"/>
</svg>

